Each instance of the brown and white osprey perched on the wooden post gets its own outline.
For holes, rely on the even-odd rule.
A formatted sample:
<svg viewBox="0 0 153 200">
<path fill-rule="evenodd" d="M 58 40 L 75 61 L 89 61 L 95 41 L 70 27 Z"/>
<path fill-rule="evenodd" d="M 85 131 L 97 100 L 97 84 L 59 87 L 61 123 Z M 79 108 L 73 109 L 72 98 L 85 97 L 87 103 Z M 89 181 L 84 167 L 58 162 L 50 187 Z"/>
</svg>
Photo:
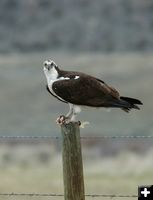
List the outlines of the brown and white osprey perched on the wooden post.
<svg viewBox="0 0 153 200">
<path fill-rule="evenodd" d="M 57 123 L 75 121 L 82 106 L 121 108 L 125 112 L 140 109 L 138 99 L 120 96 L 119 92 L 104 81 L 81 72 L 61 70 L 52 60 L 44 62 L 44 74 L 47 90 L 58 100 L 68 103 L 70 110 L 66 116 L 61 115 Z"/>
</svg>

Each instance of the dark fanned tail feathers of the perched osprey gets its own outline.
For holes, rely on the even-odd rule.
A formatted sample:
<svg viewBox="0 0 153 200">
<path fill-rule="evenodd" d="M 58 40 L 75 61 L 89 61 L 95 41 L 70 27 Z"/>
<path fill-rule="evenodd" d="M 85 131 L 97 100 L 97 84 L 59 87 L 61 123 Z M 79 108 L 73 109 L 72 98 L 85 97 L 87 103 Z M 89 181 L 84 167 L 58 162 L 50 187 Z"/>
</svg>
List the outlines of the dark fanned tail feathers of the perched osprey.
<svg viewBox="0 0 153 200">
<path fill-rule="evenodd" d="M 121 105 L 121 109 L 125 112 L 129 112 L 131 109 L 140 110 L 140 107 L 137 105 L 142 105 L 143 103 L 138 99 L 133 99 L 130 97 L 120 97 L 119 104 Z"/>
</svg>

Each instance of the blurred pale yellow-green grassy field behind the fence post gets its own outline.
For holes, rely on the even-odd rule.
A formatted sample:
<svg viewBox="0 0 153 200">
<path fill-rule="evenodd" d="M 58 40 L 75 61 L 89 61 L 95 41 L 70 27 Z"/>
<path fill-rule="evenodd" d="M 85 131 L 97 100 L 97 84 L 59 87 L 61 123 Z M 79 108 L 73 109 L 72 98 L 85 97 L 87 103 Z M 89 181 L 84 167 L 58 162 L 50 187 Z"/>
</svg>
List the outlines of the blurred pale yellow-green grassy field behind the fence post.
<svg viewBox="0 0 153 200">
<path fill-rule="evenodd" d="M 1 146 L 0 193 L 63 193 L 60 152 L 53 153 L 54 149 L 49 145 L 20 145 L 13 147 L 12 153 L 10 152 L 6 146 Z M 143 155 L 122 152 L 113 157 L 99 157 L 89 155 L 83 146 L 86 194 L 137 195 L 138 185 L 152 184 L 152 153 L 153 150 Z M 9 198 L 0 197 L 0 199 Z M 32 199 L 63 198 L 32 197 Z"/>
</svg>

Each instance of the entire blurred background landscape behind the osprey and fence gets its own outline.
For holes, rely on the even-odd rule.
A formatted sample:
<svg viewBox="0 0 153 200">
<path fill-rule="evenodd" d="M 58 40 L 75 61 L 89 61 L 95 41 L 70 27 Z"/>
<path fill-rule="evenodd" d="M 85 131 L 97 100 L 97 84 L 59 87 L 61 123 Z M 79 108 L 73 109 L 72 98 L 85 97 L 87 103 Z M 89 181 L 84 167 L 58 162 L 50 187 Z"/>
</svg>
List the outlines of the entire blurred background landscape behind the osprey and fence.
<svg viewBox="0 0 153 200">
<path fill-rule="evenodd" d="M 85 109 L 82 136 L 153 135 L 152 53 L 152 0 L 1 0 L 0 135 L 61 137 L 55 120 L 68 106 L 46 91 L 48 58 L 144 103 L 129 114 Z M 138 185 L 153 184 L 152 146 L 83 140 L 86 193 L 137 194 Z M 61 140 L 1 139 L 0 179 L 0 193 L 63 193 Z"/>
</svg>

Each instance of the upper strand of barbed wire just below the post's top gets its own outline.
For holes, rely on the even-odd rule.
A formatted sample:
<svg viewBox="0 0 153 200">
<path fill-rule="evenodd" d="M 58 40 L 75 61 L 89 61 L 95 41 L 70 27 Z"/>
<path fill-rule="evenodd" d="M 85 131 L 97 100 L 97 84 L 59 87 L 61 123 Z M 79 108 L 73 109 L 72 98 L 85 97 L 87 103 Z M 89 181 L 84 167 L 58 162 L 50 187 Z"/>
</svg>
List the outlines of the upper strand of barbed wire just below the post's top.
<svg viewBox="0 0 153 200">
<path fill-rule="evenodd" d="M 8 135 L 0 135 L 0 139 L 11 139 L 11 140 L 17 140 L 17 139 L 37 139 L 37 140 L 41 140 L 41 139 L 51 139 L 51 140 L 58 140 L 58 139 L 62 139 L 62 137 L 59 136 L 29 136 L 29 135 L 25 135 L 25 136 L 8 136 Z M 81 136 L 81 139 L 83 140 L 95 140 L 95 139 L 153 139 L 152 135 L 102 135 L 102 136 Z"/>
</svg>

